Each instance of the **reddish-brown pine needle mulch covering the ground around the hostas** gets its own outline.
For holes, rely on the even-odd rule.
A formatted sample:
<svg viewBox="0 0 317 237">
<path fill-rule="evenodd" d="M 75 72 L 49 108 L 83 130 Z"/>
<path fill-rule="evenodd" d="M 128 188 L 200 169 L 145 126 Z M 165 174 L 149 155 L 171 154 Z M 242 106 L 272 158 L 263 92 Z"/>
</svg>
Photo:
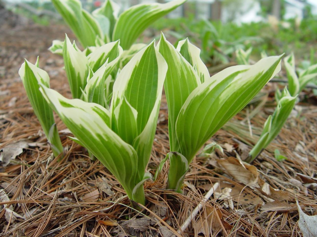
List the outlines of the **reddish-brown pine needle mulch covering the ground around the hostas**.
<svg viewBox="0 0 317 237">
<path fill-rule="evenodd" d="M 46 50 L 53 39 L 62 40 L 65 31 L 71 35 L 66 27 L 27 25 L 0 36 L 0 149 L 24 148 L 8 165 L 0 166 L 1 236 L 301 236 L 295 199 L 305 213 L 317 214 L 316 106 L 296 106 L 297 113 L 254 162 L 258 177 L 241 173 L 252 184 L 232 178 L 219 160 L 243 159 L 274 107 L 250 105 L 218 131 L 209 143 L 217 142 L 224 154 L 216 149 L 207 157 L 197 156 L 183 194 L 165 189 L 165 164 L 157 181 L 145 183 L 147 204 L 137 211 L 113 175 L 67 138 L 70 134 L 58 118 L 65 156 L 60 161 L 52 158 L 29 105 L 17 74 L 23 58 L 34 63 L 40 55 L 40 67 L 49 73 L 51 88 L 70 96 L 62 58 Z M 276 161 L 275 149 L 288 159 Z M 168 151 L 163 97 L 148 166 L 152 174 Z M 219 188 L 213 190 L 216 183 Z M 210 190 L 213 195 L 203 201 Z M 181 231 L 200 202 L 202 209 Z"/>
</svg>

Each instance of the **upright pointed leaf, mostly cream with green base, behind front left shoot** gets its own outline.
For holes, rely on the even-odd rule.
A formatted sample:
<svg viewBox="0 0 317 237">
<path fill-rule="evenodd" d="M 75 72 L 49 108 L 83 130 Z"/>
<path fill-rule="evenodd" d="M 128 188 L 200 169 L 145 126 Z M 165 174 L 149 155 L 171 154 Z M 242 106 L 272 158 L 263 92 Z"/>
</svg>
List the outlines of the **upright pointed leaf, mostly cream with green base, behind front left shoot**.
<svg viewBox="0 0 317 237">
<path fill-rule="evenodd" d="M 74 44 L 75 46 L 75 44 Z M 70 91 L 74 99 L 81 97 L 81 91 L 87 84 L 88 60 L 83 52 L 76 50 L 67 35 L 63 46 L 64 65 Z"/>
</svg>

